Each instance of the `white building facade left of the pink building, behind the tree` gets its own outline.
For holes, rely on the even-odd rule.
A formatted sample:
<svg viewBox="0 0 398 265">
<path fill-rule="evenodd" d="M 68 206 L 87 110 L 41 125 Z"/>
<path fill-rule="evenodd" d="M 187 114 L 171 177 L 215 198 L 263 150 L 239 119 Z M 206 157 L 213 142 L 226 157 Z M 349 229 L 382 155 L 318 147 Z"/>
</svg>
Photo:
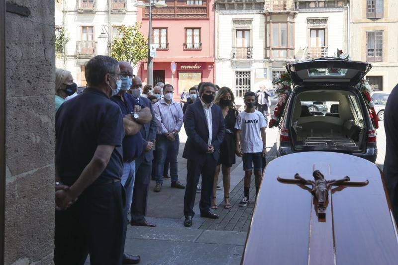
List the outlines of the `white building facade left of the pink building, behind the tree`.
<svg viewBox="0 0 398 265">
<path fill-rule="evenodd" d="M 55 3 L 56 35 L 65 29 L 64 53 L 56 67 L 72 72 L 79 86 L 86 86 L 84 64 L 96 55 L 108 55 L 110 43 L 118 38 L 117 27 L 134 25 L 135 0 L 59 0 Z M 110 8 L 109 8 L 110 6 Z M 109 10 L 110 9 L 110 10 Z"/>
</svg>

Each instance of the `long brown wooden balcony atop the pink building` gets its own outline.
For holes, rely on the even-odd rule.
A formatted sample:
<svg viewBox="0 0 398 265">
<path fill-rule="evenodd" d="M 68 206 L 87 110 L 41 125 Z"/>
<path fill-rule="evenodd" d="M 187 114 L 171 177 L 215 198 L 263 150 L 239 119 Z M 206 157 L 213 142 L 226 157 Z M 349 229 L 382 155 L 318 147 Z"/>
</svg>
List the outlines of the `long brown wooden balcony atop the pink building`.
<svg viewBox="0 0 398 265">
<path fill-rule="evenodd" d="M 145 1 L 146 2 L 146 1 Z M 202 0 L 201 4 L 187 4 L 182 0 L 167 0 L 167 6 L 162 8 L 152 7 L 152 17 L 162 18 L 207 18 L 209 10 L 207 1 Z M 149 17 L 149 8 L 145 8 L 145 17 Z"/>
</svg>

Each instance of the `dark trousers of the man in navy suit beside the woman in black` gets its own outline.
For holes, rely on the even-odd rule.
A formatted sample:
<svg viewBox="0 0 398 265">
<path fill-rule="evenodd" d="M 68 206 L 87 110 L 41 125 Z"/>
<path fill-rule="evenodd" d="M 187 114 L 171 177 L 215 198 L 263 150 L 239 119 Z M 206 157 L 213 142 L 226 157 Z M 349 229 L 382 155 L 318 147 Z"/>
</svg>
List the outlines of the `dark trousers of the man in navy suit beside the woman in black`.
<svg viewBox="0 0 398 265">
<path fill-rule="evenodd" d="M 200 174 L 202 176 L 202 189 L 199 209 L 201 213 L 209 210 L 216 166 L 217 161 L 214 160 L 212 154 L 206 154 L 206 158 L 202 161 L 187 161 L 187 187 L 184 196 L 184 215 L 186 217 L 195 215 L 194 204 Z"/>
</svg>

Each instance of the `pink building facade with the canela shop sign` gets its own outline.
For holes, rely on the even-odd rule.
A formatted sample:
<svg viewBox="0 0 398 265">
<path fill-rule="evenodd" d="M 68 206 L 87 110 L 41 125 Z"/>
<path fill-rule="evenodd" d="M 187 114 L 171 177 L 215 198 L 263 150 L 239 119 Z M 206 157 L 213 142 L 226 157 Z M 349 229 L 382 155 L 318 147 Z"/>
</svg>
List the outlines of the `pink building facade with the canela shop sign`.
<svg viewBox="0 0 398 265">
<path fill-rule="evenodd" d="M 213 3 L 213 0 L 166 0 L 167 7 L 152 9 L 153 43 L 157 47 L 153 83 L 172 84 L 176 100 L 184 88 L 214 82 Z M 148 36 L 148 13 L 148 8 L 137 13 L 145 36 Z M 146 62 L 138 65 L 138 76 L 147 82 Z"/>
</svg>

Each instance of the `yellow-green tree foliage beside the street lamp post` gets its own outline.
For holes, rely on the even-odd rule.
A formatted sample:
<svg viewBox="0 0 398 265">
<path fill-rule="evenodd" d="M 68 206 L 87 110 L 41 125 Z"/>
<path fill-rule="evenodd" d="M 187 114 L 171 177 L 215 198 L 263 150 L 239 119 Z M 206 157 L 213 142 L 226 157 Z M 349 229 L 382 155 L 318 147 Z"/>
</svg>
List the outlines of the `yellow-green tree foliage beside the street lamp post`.
<svg viewBox="0 0 398 265">
<path fill-rule="evenodd" d="M 113 40 L 111 56 L 119 61 L 127 61 L 133 67 L 148 57 L 148 39 L 140 32 L 141 23 L 134 26 L 121 26 L 117 30 L 119 39 Z"/>
</svg>

